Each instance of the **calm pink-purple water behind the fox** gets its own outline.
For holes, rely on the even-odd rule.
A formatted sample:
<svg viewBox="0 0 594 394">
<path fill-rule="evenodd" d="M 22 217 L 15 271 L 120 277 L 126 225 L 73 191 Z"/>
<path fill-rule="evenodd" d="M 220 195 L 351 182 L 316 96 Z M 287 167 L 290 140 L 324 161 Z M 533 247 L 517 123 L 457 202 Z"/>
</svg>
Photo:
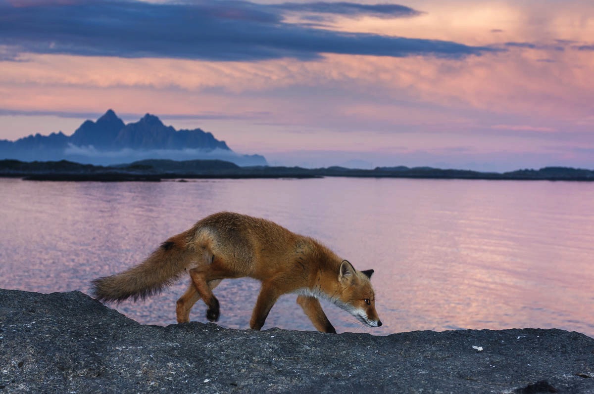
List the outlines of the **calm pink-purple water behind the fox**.
<svg viewBox="0 0 594 394">
<path fill-rule="evenodd" d="M 162 183 L 0 179 L 0 287 L 89 293 L 213 212 L 266 217 L 375 269 L 381 328 L 323 304 L 337 331 L 563 328 L 594 336 L 594 183 L 481 180 L 208 180 Z M 117 309 L 175 323 L 187 279 Z M 216 288 L 219 324 L 248 328 L 259 283 Z M 199 301 L 191 319 L 206 322 Z M 264 329 L 313 329 L 295 295 Z"/>
</svg>

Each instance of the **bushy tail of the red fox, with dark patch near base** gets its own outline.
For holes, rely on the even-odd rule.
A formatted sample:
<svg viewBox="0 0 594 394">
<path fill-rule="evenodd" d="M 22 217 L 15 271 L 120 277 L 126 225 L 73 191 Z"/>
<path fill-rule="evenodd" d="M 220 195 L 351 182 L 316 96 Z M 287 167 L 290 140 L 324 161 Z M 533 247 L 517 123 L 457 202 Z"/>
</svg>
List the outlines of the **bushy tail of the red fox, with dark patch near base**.
<svg viewBox="0 0 594 394">
<path fill-rule="evenodd" d="M 171 237 L 140 264 L 119 274 L 91 281 L 99 301 L 144 300 L 173 284 L 195 259 L 188 232 Z"/>
</svg>

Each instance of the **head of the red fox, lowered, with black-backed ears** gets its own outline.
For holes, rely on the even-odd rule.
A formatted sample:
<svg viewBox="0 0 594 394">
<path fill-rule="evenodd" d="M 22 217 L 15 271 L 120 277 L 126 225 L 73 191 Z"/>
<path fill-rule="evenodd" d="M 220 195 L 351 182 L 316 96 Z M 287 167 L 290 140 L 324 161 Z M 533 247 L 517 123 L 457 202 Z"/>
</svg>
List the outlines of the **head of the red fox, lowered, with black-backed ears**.
<svg viewBox="0 0 594 394">
<path fill-rule="evenodd" d="M 375 310 L 375 293 L 371 287 L 372 269 L 357 271 L 347 260 L 340 263 L 339 291 L 336 304 L 368 327 L 381 326 Z"/>
</svg>

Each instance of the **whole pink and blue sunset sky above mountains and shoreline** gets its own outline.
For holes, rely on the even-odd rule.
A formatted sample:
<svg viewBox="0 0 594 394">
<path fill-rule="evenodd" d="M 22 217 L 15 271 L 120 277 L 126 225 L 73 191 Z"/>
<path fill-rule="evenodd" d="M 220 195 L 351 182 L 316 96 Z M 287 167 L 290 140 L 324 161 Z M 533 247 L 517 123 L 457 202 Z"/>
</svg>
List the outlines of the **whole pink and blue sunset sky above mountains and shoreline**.
<svg viewBox="0 0 594 394">
<path fill-rule="evenodd" d="M 0 0 L 0 139 L 108 109 L 270 164 L 594 169 L 594 2 Z"/>
</svg>

